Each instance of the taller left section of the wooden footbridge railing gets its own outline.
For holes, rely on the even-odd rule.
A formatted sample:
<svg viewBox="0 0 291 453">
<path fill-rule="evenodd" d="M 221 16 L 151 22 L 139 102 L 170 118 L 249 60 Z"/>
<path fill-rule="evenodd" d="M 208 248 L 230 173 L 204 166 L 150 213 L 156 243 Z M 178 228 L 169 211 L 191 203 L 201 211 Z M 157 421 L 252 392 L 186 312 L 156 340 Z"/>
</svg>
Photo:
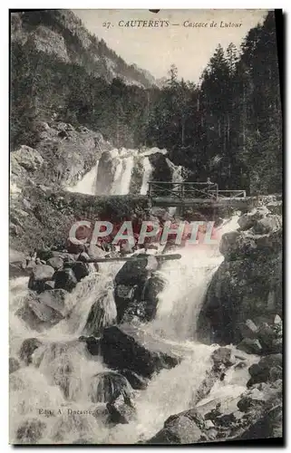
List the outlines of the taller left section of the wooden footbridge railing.
<svg viewBox="0 0 291 453">
<path fill-rule="evenodd" d="M 207 182 L 150 181 L 148 197 L 218 199 L 218 184 Z"/>
</svg>

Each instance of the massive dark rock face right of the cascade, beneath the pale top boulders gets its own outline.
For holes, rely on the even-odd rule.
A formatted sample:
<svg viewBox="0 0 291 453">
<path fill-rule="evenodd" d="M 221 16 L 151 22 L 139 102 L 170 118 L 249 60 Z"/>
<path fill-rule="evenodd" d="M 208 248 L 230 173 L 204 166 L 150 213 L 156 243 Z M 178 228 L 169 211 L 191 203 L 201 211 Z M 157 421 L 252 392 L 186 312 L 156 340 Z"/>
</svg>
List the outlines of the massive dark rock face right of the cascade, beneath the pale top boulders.
<svg viewBox="0 0 291 453">
<path fill-rule="evenodd" d="M 252 336 L 244 325 L 247 320 L 257 326 L 273 323 L 282 313 L 282 299 L 281 254 L 225 259 L 212 277 L 199 313 L 199 340 L 241 342 Z M 252 329 L 255 333 L 254 325 Z"/>
</svg>

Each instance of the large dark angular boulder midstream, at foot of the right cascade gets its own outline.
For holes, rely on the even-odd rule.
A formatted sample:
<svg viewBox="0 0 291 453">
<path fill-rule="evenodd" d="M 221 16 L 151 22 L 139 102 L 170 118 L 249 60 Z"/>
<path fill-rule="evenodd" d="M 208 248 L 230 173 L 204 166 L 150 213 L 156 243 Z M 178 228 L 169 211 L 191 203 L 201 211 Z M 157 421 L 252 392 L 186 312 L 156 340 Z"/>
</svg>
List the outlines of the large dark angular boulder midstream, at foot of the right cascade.
<svg viewBox="0 0 291 453">
<path fill-rule="evenodd" d="M 104 329 L 101 352 L 103 361 L 111 368 L 126 368 L 145 378 L 179 363 L 179 357 L 171 352 L 169 345 L 128 324 Z"/>
</svg>

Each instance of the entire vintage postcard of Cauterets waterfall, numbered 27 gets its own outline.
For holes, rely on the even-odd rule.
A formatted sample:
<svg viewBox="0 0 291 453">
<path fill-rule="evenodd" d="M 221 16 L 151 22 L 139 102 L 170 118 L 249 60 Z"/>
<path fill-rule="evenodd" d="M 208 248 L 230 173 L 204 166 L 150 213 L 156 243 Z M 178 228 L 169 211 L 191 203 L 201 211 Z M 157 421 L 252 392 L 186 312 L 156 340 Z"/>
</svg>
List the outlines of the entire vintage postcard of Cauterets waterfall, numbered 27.
<svg viewBox="0 0 291 453">
<path fill-rule="evenodd" d="M 282 443 L 281 11 L 9 18 L 10 443 Z"/>
</svg>

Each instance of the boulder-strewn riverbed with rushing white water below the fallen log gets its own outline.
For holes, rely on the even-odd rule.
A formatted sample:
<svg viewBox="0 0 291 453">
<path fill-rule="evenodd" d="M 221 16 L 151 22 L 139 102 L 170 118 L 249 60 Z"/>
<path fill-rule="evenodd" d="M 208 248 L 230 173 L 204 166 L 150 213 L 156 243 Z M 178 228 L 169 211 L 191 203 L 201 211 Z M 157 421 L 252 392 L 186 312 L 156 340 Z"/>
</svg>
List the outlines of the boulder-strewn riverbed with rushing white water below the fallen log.
<svg viewBox="0 0 291 453">
<path fill-rule="evenodd" d="M 173 264 L 150 266 L 155 249 L 135 252 L 138 266 L 89 263 L 112 254 L 97 246 L 12 254 L 11 441 L 280 438 L 280 232 L 280 215 L 257 207 L 222 236 L 222 255 L 180 249 L 175 274 Z M 169 312 L 187 272 L 201 275 L 202 256 L 208 266 L 216 260 L 203 271 L 204 290 L 194 281 L 185 305 Z M 169 323 L 178 326 L 191 304 L 189 329 L 169 336 Z"/>
</svg>

